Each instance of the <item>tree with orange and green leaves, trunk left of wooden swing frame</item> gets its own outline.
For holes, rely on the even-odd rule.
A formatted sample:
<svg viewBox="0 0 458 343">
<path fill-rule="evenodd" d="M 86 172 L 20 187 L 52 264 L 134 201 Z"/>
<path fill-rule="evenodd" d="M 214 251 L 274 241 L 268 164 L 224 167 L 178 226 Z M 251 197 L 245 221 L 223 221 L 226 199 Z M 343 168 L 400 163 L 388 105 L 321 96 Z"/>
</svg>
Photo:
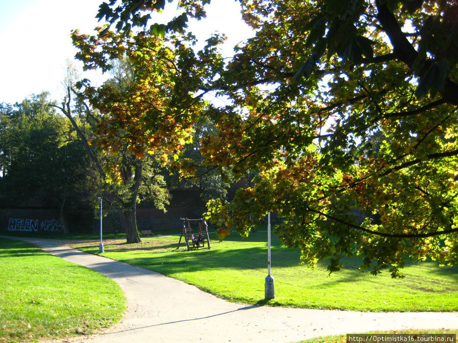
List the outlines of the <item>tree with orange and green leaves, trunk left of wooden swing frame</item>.
<svg viewBox="0 0 458 343">
<path fill-rule="evenodd" d="M 85 68 L 113 72 L 114 77 L 100 87 L 88 80 L 79 86 L 101 114 L 93 143 L 110 156 L 111 164 L 105 169 L 111 184 L 121 187 L 118 194 L 127 242 L 138 242 L 135 214 L 139 192 L 149 185 L 156 205 L 164 208 L 165 190 L 159 187 L 163 178 L 154 166 L 176 159 L 190 141 L 196 118 L 191 113 L 198 106 L 188 92 L 193 85 L 175 82 L 183 77 L 177 72 L 179 58 L 159 37 L 117 35 L 100 28 L 96 36 L 75 32 L 73 39 Z"/>
</svg>

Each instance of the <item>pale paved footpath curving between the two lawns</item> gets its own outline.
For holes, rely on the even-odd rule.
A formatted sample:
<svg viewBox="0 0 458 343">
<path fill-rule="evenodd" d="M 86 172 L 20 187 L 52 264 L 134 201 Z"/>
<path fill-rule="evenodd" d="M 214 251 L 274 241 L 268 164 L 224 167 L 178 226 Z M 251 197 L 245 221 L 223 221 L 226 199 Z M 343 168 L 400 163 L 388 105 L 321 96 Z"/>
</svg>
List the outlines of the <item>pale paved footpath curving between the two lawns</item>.
<svg viewBox="0 0 458 343">
<path fill-rule="evenodd" d="M 103 333 L 77 338 L 80 342 L 297 342 L 375 330 L 458 329 L 458 313 L 361 313 L 226 302 L 156 272 L 73 250 L 68 241 L 15 239 L 94 269 L 123 289 L 127 310 L 122 321 Z"/>
</svg>

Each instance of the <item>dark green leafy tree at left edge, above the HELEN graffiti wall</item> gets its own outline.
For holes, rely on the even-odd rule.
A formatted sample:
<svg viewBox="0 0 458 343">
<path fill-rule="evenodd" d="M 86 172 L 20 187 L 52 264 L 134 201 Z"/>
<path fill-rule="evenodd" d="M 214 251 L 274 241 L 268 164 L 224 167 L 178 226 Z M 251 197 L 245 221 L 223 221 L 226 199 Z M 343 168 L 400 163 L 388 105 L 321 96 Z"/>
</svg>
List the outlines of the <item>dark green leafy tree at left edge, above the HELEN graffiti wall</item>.
<svg viewBox="0 0 458 343">
<path fill-rule="evenodd" d="M 48 106 L 48 96 L 43 92 L 0 114 L 1 195 L 9 205 L 36 198 L 57 207 L 68 233 L 64 210 L 79 198 L 88 161 L 69 122 Z"/>
</svg>

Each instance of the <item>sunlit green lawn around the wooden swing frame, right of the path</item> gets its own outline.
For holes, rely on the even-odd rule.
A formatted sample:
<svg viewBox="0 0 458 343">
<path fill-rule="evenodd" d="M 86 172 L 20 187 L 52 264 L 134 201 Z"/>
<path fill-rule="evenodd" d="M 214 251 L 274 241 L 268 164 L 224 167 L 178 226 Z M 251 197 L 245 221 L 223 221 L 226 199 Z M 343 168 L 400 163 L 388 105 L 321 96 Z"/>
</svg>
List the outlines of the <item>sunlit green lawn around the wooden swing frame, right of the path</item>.
<svg viewBox="0 0 458 343">
<path fill-rule="evenodd" d="M 106 241 L 102 255 L 183 280 L 227 300 L 265 303 L 266 232 L 252 233 L 246 240 L 232 234 L 223 242 L 212 240 L 211 250 L 190 252 L 177 250 L 178 239 L 143 238 L 139 244 Z M 275 299 L 269 305 L 360 311 L 458 310 L 458 266 L 411 263 L 403 270 L 404 279 L 392 279 L 388 272 L 371 276 L 358 269 L 357 259 L 346 259 L 345 270 L 328 275 L 326 264 L 310 269 L 299 264 L 298 250 L 284 247 L 276 238 L 272 245 Z M 94 243 L 75 247 L 98 253 Z"/>
</svg>

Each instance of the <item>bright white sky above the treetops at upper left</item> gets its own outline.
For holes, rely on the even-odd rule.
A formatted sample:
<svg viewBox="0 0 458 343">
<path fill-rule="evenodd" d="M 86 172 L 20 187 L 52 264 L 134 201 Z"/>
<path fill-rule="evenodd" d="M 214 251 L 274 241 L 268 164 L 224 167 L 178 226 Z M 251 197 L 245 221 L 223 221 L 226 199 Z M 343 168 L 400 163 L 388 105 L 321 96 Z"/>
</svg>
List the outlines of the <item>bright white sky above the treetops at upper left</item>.
<svg viewBox="0 0 458 343">
<path fill-rule="evenodd" d="M 21 102 L 33 93 L 51 93 L 51 100 L 64 95 L 62 81 L 67 60 L 73 61 L 76 49 L 70 32 L 79 29 L 93 33 L 99 5 L 103 0 L 0 0 L 0 103 Z M 173 17 L 175 7 L 168 4 Z M 197 37 L 206 39 L 213 32 L 225 33 L 224 53 L 253 35 L 241 21 L 235 0 L 213 0 L 207 7 L 208 19 L 190 23 Z M 94 74 L 83 75 L 89 79 Z"/>
</svg>

